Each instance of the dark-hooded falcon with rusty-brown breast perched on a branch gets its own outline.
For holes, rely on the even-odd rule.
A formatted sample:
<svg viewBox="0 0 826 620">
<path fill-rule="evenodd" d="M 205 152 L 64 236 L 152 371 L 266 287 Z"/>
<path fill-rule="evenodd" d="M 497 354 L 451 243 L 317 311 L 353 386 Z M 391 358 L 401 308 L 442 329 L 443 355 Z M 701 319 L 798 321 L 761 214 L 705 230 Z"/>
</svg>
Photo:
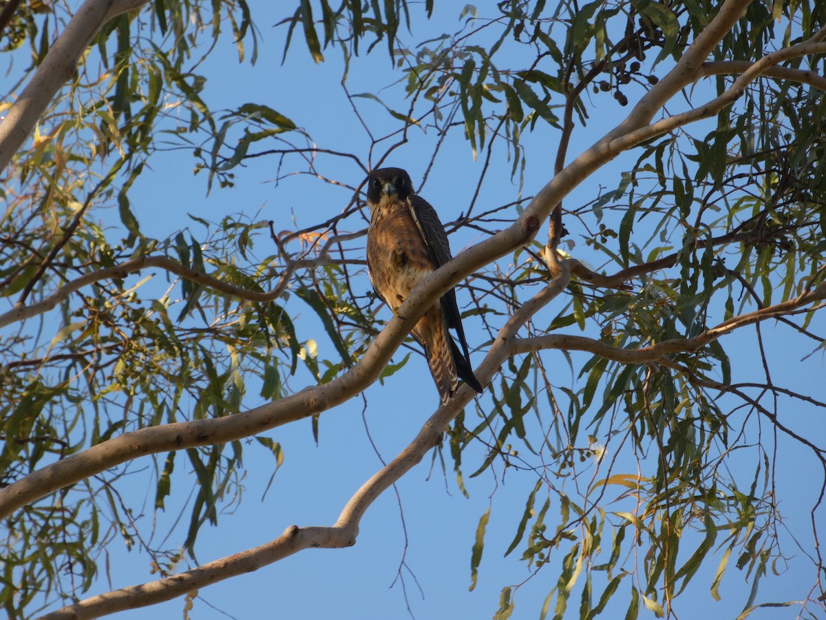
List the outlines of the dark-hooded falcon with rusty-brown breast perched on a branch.
<svg viewBox="0 0 826 620">
<path fill-rule="evenodd" d="M 415 195 L 410 175 L 401 168 L 373 170 L 368 178 L 367 203 L 368 274 L 373 289 L 396 314 L 415 285 L 452 258 L 448 236 L 434 208 Z M 456 330 L 462 351 L 449 328 Z M 425 347 L 427 365 L 443 404 L 456 391 L 458 379 L 482 392 L 473 375 L 453 289 L 425 312 L 411 336 Z"/>
</svg>

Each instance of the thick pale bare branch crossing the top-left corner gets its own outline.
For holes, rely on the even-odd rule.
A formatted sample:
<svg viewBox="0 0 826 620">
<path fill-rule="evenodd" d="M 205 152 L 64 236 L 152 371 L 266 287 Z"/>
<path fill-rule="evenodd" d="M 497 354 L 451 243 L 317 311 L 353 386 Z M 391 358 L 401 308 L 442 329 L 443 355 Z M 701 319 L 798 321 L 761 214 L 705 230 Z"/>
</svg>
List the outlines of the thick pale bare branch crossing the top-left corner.
<svg viewBox="0 0 826 620">
<path fill-rule="evenodd" d="M 86 0 L 51 46 L 20 97 L 0 123 L 0 171 L 34 130 L 46 107 L 78 68 L 93 37 L 113 17 L 142 7 L 149 0 Z"/>
</svg>

